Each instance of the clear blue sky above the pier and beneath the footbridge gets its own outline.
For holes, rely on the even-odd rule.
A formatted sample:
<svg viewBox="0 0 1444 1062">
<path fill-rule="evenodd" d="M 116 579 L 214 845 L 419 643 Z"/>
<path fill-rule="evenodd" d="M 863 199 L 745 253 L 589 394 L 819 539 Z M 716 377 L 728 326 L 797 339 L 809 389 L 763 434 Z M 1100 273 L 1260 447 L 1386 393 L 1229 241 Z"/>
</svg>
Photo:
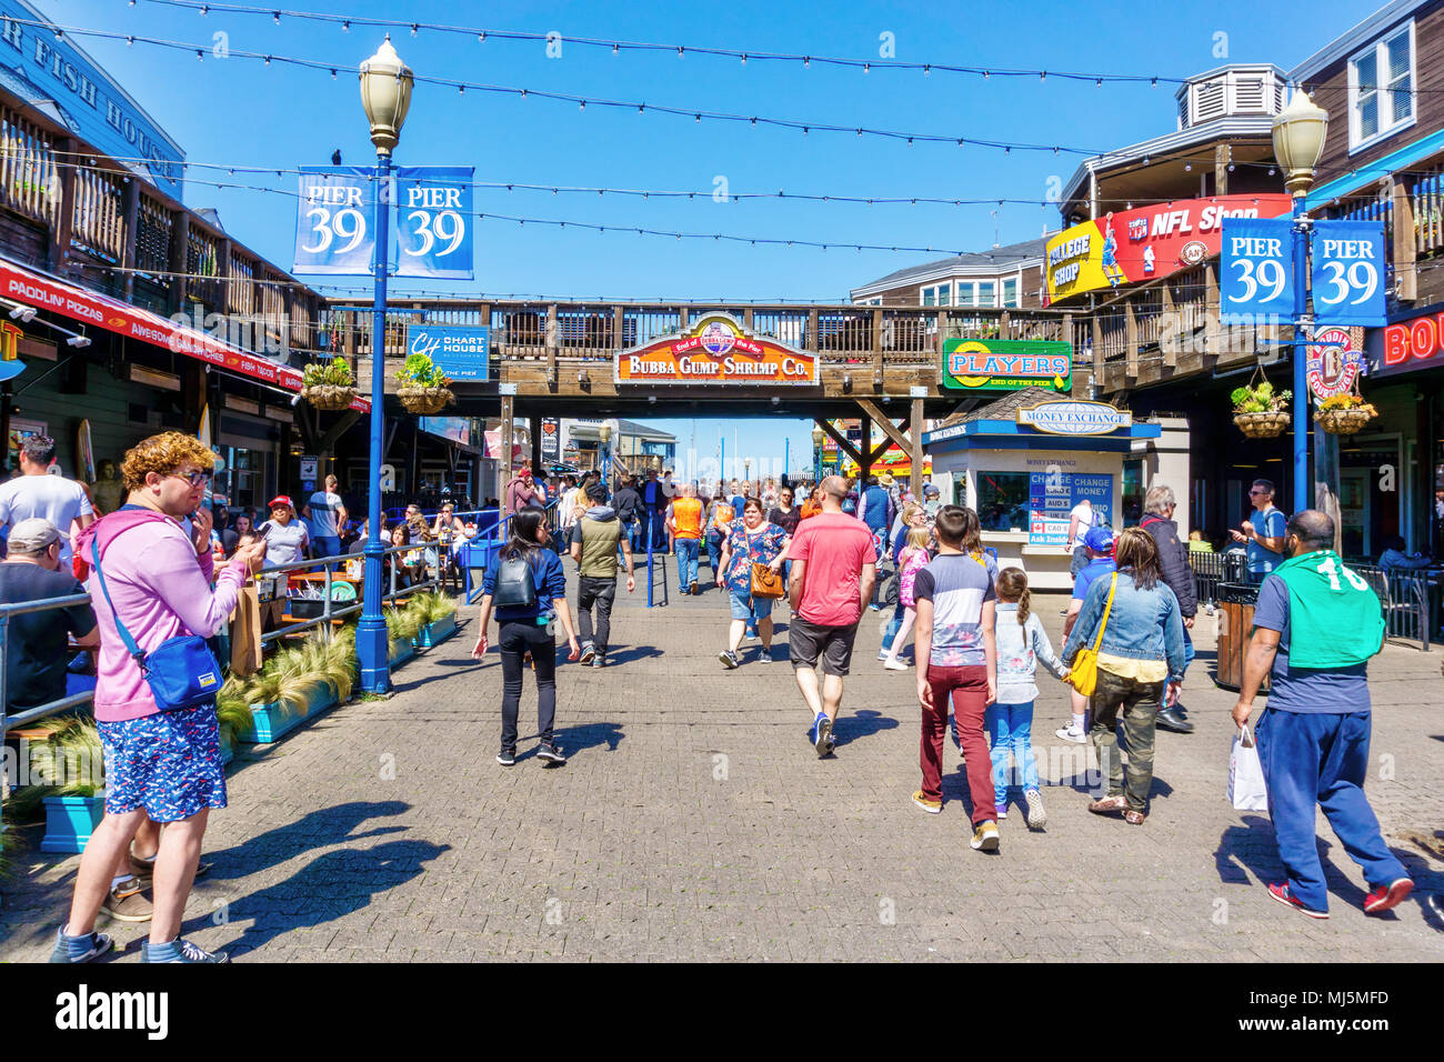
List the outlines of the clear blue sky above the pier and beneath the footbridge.
<svg viewBox="0 0 1444 1062">
<path fill-rule="evenodd" d="M 270 16 L 198 12 L 137 0 L 35 0 L 61 25 L 195 42 L 209 48 L 225 33 L 231 49 L 318 59 L 338 66 L 371 55 L 380 27 L 328 26 Z M 1175 127 L 1173 85 L 1157 88 L 1050 77 L 986 81 L 976 75 L 773 64 L 676 52 L 612 55 L 569 43 L 608 38 L 744 51 L 879 56 L 891 35 L 895 58 L 992 65 L 1187 77 L 1223 62 L 1302 61 L 1375 7 L 1318 0 L 1308 17 L 1291 9 L 1230 0 L 1170 3 L 1037 3 L 949 7 L 937 3 L 806 3 L 741 0 L 696 3 L 374 3 L 308 0 L 310 12 L 396 19 L 393 42 L 417 75 L 643 100 L 697 110 L 1028 142 L 1106 150 Z M 560 58 L 542 42 L 485 43 L 440 35 L 410 22 L 445 22 L 491 30 L 557 32 Z M 1225 36 L 1220 36 L 1225 35 Z M 293 168 L 323 163 L 341 149 L 348 163 L 373 157 L 355 75 L 303 71 L 238 58 L 198 62 L 193 52 L 144 43 L 77 42 L 107 68 L 192 162 Z M 1226 56 L 1217 51 L 1226 48 Z M 554 49 L 553 49 L 554 51 Z M 687 199 L 622 199 L 550 192 L 478 189 L 477 210 L 529 218 L 606 225 L 729 233 L 884 246 L 982 250 L 1056 228 L 1053 208 L 1006 205 L 851 205 L 797 201 L 719 204 L 716 181 L 732 192 L 799 191 L 823 195 L 918 195 L 1043 199 L 1050 178 L 1066 181 L 1080 156 L 885 142 L 853 134 L 718 124 L 653 111 L 608 110 L 520 100 L 420 84 L 396 159 L 459 163 L 478 181 L 608 188 L 696 189 Z M 198 184 L 191 170 L 186 202 L 217 207 L 227 230 L 256 251 L 290 264 L 295 201 Z M 232 181 L 219 175 L 218 179 Z M 250 178 L 293 191 L 295 178 Z M 996 218 L 991 211 L 998 211 Z M 996 230 L 995 230 L 996 227 Z M 632 299 L 845 301 L 848 289 L 939 254 L 751 247 L 715 241 L 595 234 L 514 223 L 478 224 L 477 280 L 448 290 L 490 295 Z M 318 280 L 322 280 L 318 277 Z M 326 279 L 332 280 L 334 279 Z M 365 282 L 341 280 L 364 288 Z M 396 282 L 393 292 L 416 285 Z M 436 290 L 439 282 L 425 282 Z M 690 444 L 690 420 L 664 423 Z M 716 451 L 731 423 L 697 422 L 697 449 Z M 810 451 L 809 425 L 767 418 L 744 431 L 758 459 Z M 731 438 L 728 441 L 731 451 Z M 806 464 L 807 459 L 803 461 Z M 796 462 L 794 462 L 796 464 Z"/>
</svg>

